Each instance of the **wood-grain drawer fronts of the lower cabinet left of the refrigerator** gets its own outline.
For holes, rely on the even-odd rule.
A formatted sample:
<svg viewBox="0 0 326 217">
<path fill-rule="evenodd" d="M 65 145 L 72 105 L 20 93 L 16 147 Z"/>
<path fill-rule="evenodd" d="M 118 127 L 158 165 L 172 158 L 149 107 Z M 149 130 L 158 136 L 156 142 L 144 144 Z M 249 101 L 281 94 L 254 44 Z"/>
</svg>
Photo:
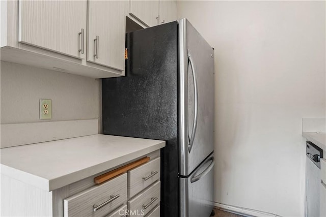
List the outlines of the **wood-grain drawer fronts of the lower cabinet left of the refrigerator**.
<svg viewBox="0 0 326 217">
<path fill-rule="evenodd" d="M 91 179 L 76 182 L 68 187 L 71 196 L 63 200 L 63 215 L 159 216 L 159 179 L 160 158 L 156 157 L 90 188 Z"/>
</svg>

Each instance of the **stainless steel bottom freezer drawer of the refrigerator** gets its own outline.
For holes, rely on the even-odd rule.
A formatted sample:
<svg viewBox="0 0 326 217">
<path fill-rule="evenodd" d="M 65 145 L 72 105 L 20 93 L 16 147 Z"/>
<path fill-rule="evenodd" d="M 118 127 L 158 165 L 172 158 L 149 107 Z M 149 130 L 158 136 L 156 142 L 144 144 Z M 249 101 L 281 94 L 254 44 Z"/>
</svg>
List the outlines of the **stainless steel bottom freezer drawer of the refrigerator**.
<svg viewBox="0 0 326 217">
<path fill-rule="evenodd" d="M 211 159 L 212 155 L 209 157 Z M 205 161 L 196 173 L 205 173 L 199 180 L 191 182 L 195 173 L 188 178 L 180 178 L 180 216 L 209 216 L 213 209 L 214 169 L 211 161 Z M 207 171 L 207 172 L 204 172 Z"/>
</svg>

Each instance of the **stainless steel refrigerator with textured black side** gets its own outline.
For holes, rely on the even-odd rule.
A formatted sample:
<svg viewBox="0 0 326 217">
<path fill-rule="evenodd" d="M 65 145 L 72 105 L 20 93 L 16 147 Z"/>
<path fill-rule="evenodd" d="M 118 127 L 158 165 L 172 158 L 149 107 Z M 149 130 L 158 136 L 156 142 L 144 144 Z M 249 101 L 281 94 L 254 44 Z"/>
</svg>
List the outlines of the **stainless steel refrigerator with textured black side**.
<svg viewBox="0 0 326 217">
<path fill-rule="evenodd" d="M 126 34 L 126 76 L 102 79 L 103 133 L 166 140 L 161 216 L 209 216 L 214 50 L 186 19 Z"/>
</svg>

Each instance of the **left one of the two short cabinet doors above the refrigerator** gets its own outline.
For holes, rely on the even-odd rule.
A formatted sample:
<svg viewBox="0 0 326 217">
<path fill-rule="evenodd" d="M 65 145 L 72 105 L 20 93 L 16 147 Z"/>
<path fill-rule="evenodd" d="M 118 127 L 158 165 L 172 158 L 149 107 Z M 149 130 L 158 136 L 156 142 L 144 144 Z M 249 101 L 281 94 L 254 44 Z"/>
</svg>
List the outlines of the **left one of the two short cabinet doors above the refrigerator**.
<svg viewBox="0 0 326 217">
<path fill-rule="evenodd" d="M 157 25 L 159 1 L 129 0 L 129 14 L 147 26 Z"/>
</svg>

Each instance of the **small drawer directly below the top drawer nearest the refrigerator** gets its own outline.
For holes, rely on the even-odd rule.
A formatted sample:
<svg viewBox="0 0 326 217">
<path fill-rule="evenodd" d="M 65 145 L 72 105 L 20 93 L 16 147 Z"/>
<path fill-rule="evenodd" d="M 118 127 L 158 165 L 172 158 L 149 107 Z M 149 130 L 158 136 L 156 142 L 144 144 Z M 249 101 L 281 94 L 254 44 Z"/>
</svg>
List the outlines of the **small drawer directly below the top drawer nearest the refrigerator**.
<svg viewBox="0 0 326 217">
<path fill-rule="evenodd" d="M 130 216 L 148 214 L 160 202 L 160 181 L 127 202 Z"/>
</svg>

